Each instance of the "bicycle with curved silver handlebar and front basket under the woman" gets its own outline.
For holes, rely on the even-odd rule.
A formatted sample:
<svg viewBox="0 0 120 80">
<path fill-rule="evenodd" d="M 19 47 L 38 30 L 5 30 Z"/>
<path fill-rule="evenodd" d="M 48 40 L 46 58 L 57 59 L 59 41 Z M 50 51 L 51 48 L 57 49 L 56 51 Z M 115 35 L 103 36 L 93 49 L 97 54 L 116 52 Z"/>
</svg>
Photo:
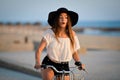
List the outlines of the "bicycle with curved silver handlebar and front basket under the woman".
<svg viewBox="0 0 120 80">
<path fill-rule="evenodd" d="M 64 79 L 64 75 L 67 73 L 70 76 L 70 80 L 85 80 L 85 73 L 88 73 L 85 69 L 83 70 L 78 70 L 78 67 L 70 67 L 70 71 L 58 71 L 54 66 L 51 65 L 42 65 L 42 68 L 52 68 L 53 70 L 55 70 L 57 73 L 62 73 L 61 76 L 54 76 L 53 80 L 57 80 L 58 77 L 60 78 L 60 80 L 65 80 Z M 79 73 L 75 72 L 75 70 L 77 70 Z M 85 73 L 83 73 L 83 71 Z"/>
</svg>

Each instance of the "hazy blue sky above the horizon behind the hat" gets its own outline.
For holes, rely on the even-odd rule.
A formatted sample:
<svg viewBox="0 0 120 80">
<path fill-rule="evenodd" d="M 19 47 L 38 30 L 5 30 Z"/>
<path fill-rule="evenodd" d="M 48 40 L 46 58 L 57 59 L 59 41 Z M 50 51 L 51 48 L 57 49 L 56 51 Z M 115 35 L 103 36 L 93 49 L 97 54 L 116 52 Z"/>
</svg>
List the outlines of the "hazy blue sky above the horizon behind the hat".
<svg viewBox="0 0 120 80">
<path fill-rule="evenodd" d="M 47 22 L 59 7 L 77 12 L 79 21 L 120 20 L 120 0 L 0 0 L 0 22 Z"/>
</svg>

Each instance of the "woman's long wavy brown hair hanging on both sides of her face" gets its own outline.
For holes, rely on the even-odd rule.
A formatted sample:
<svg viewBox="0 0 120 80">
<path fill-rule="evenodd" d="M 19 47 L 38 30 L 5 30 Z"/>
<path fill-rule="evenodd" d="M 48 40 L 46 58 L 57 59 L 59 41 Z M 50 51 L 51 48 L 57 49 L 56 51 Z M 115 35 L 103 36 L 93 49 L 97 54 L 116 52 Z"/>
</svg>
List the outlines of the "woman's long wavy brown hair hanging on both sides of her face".
<svg viewBox="0 0 120 80">
<path fill-rule="evenodd" d="M 55 33 L 55 37 L 58 42 L 59 42 L 58 37 L 59 37 L 59 33 L 60 33 L 60 31 L 59 31 L 59 15 L 55 18 L 54 25 L 52 26 L 52 30 Z M 71 23 L 71 19 L 70 19 L 69 15 L 67 15 L 67 18 L 68 18 L 68 21 L 67 21 L 67 25 L 66 25 L 66 33 L 67 33 L 68 37 L 70 38 L 71 46 L 74 49 L 74 41 L 75 40 L 74 40 L 74 36 L 73 36 L 73 32 L 72 32 L 72 23 Z"/>
</svg>

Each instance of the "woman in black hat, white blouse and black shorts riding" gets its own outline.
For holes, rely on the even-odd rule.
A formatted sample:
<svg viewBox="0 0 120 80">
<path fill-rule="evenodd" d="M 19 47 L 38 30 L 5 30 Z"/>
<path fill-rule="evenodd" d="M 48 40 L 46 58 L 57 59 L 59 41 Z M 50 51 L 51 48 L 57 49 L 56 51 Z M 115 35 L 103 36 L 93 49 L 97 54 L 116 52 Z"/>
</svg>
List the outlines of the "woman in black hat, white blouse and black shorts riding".
<svg viewBox="0 0 120 80">
<path fill-rule="evenodd" d="M 36 52 L 35 68 L 39 69 L 40 65 L 52 65 L 57 70 L 69 71 L 69 61 L 75 60 L 75 65 L 79 69 L 84 68 L 80 62 L 77 50 L 80 48 L 78 38 L 72 30 L 78 21 L 78 14 L 69 11 L 66 8 L 59 8 L 57 11 L 52 11 L 48 16 L 48 23 L 52 27 L 44 32 L 39 48 Z M 44 48 L 47 48 L 47 55 L 40 63 L 40 54 Z M 54 75 L 61 75 L 52 68 L 42 70 L 43 80 L 52 80 Z M 69 74 L 65 74 L 65 80 L 69 80 Z"/>
</svg>

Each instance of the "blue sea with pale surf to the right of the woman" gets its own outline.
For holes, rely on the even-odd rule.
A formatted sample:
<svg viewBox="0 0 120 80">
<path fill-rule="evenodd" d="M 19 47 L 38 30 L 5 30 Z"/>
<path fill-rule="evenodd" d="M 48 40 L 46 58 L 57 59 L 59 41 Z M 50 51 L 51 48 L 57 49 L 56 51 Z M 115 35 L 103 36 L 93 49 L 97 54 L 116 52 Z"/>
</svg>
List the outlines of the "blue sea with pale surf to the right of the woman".
<svg viewBox="0 0 120 80">
<path fill-rule="evenodd" d="M 48 24 L 46 22 L 43 22 L 43 25 L 48 25 Z M 83 32 L 78 32 L 79 34 L 120 37 L 120 20 L 117 20 L 117 21 L 79 21 L 75 25 L 75 27 L 84 28 Z M 103 31 L 100 29 L 90 29 L 90 28 L 106 28 L 106 29 L 111 29 L 111 30 Z M 116 29 L 116 30 L 112 30 L 112 29 Z"/>
</svg>

